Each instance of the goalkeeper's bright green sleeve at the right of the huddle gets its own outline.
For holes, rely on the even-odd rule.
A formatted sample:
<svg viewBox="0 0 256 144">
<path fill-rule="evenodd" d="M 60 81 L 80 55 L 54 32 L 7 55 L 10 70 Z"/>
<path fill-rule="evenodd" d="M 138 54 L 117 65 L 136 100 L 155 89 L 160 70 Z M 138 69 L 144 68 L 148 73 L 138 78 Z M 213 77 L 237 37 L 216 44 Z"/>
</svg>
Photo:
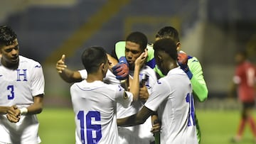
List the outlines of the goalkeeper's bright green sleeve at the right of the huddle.
<svg viewBox="0 0 256 144">
<path fill-rule="evenodd" d="M 188 61 L 188 67 L 193 74 L 193 77 L 191 78 L 193 93 L 196 94 L 199 101 L 206 101 L 208 97 L 208 88 L 206 86 L 206 81 L 203 78 L 203 70 L 200 62 L 196 57 L 193 57 Z"/>
</svg>

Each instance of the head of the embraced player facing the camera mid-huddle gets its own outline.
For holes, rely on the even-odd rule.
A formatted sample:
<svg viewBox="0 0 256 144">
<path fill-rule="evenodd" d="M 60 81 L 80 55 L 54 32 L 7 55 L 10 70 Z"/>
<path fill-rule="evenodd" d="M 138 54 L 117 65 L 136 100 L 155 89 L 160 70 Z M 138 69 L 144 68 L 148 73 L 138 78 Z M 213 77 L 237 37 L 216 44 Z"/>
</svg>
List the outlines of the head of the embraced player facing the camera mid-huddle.
<svg viewBox="0 0 256 144">
<path fill-rule="evenodd" d="M 130 33 L 125 40 L 125 57 L 129 62 L 129 69 L 134 70 L 134 62 L 144 52 L 148 41 L 141 32 Z"/>
</svg>

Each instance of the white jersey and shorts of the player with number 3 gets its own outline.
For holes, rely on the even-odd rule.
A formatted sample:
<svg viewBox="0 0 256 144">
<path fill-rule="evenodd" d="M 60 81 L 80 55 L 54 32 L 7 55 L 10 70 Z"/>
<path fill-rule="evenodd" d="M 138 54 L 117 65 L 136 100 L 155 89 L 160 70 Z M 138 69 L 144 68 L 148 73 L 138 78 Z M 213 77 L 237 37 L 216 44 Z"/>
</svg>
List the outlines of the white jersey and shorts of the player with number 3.
<svg viewBox="0 0 256 144">
<path fill-rule="evenodd" d="M 30 106 L 33 104 L 33 96 L 44 94 L 41 65 L 21 55 L 16 70 L 7 69 L 0 62 L 0 92 L 0 106 Z M 0 142 L 41 143 L 38 126 L 36 115 L 21 116 L 18 123 L 11 123 L 6 115 L 0 115 Z"/>
</svg>

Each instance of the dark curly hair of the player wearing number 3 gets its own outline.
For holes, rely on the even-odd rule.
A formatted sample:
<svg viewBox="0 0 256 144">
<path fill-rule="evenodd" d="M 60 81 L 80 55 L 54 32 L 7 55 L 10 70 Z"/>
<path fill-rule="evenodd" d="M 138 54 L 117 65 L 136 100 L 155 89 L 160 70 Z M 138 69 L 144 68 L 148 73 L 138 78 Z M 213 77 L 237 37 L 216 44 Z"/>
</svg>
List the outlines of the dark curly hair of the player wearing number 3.
<svg viewBox="0 0 256 144">
<path fill-rule="evenodd" d="M 8 26 L 0 26 L 0 46 L 9 46 L 14 44 L 17 38 L 16 33 Z"/>
</svg>

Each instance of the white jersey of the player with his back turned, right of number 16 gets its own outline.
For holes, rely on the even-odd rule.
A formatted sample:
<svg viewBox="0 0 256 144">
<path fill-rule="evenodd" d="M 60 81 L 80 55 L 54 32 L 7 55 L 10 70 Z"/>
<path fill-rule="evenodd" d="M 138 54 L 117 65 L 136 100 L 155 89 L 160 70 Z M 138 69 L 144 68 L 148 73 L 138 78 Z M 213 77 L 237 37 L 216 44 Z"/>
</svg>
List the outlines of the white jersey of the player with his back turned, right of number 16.
<svg viewBox="0 0 256 144">
<path fill-rule="evenodd" d="M 161 144 L 198 143 L 192 85 L 180 67 L 159 79 L 145 106 L 151 111 L 158 111 Z"/>
</svg>

